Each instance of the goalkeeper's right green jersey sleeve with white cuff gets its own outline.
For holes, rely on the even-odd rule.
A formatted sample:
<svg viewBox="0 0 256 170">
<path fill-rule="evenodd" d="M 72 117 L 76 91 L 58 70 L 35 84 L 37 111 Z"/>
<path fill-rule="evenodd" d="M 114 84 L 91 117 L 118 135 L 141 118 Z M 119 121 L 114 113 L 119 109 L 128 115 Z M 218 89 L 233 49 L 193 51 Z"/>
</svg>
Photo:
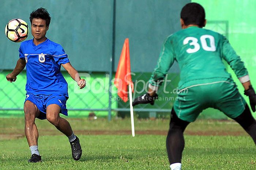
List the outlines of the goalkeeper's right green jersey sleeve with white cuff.
<svg viewBox="0 0 256 170">
<path fill-rule="evenodd" d="M 223 39 L 223 58 L 233 69 L 241 83 L 245 83 L 250 80 L 248 71 L 244 66 L 244 62 L 241 60 L 240 56 L 236 54 L 226 37 Z"/>
</svg>

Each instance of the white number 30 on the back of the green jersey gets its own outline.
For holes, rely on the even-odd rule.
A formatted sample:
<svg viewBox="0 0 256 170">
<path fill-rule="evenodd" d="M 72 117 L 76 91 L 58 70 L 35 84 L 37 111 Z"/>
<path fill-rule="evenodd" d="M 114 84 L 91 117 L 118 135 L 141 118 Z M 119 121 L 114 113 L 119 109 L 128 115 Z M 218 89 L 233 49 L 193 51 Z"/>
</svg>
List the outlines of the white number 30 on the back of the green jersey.
<svg viewBox="0 0 256 170">
<path fill-rule="evenodd" d="M 207 45 L 206 39 L 209 39 L 210 41 L 210 46 Z M 190 43 L 189 43 L 190 42 Z M 212 35 L 202 35 L 200 37 L 200 42 L 202 45 L 202 48 L 206 51 L 216 51 L 215 47 L 215 40 Z M 190 46 L 193 46 L 193 48 L 187 49 L 187 53 L 195 53 L 200 49 L 200 44 L 198 43 L 198 39 L 195 37 L 187 37 L 183 40 L 183 44 L 186 45 L 188 44 Z"/>
</svg>

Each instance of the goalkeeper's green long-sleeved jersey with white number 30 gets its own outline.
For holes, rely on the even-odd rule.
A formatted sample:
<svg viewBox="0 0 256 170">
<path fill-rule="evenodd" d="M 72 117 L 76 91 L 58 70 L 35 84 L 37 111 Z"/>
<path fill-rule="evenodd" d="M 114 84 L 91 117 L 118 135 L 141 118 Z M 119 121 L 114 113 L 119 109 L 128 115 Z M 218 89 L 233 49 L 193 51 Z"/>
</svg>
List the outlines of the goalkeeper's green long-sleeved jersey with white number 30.
<svg viewBox="0 0 256 170">
<path fill-rule="evenodd" d="M 204 83 L 233 81 L 222 59 L 227 61 L 238 78 L 248 75 L 241 58 L 223 35 L 199 27 L 182 29 L 165 40 L 150 84 L 158 86 L 174 61 L 180 67 L 180 89 Z"/>
</svg>

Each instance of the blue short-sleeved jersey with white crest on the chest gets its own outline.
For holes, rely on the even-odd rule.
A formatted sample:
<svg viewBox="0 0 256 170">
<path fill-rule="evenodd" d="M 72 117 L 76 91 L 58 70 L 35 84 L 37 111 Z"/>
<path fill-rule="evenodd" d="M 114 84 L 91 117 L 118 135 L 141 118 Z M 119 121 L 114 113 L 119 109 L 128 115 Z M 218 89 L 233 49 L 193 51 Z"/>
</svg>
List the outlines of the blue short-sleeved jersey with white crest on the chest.
<svg viewBox="0 0 256 170">
<path fill-rule="evenodd" d="M 26 60 L 27 93 L 68 97 L 68 84 L 60 68 L 69 60 L 61 45 L 46 39 L 36 46 L 30 39 L 20 44 L 19 57 Z"/>
</svg>

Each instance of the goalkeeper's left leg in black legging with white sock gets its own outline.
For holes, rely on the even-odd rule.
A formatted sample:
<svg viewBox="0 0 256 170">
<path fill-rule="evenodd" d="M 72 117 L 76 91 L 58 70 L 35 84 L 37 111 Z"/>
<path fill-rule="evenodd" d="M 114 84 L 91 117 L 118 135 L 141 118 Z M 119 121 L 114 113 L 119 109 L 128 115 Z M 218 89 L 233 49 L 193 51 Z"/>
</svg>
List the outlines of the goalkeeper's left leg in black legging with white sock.
<svg viewBox="0 0 256 170">
<path fill-rule="evenodd" d="M 189 122 L 178 118 L 174 109 L 172 109 L 170 128 L 166 139 L 166 149 L 171 169 L 181 169 L 182 151 L 185 146 L 183 132 L 188 124 Z"/>
</svg>

